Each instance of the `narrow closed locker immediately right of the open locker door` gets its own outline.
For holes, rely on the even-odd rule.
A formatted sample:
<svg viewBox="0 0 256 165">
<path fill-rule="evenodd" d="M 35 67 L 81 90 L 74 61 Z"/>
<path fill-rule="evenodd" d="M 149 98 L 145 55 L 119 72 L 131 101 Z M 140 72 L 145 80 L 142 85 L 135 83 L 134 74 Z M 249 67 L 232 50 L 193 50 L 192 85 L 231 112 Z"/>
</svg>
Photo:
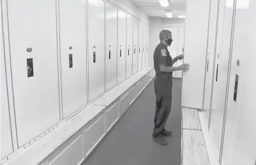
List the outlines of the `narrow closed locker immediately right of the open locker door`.
<svg viewBox="0 0 256 165">
<path fill-rule="evenodd" d="M 217 30 L 217 15 L 218 15 L 218 1 L 211 0 L 209 13 L 209 29 L 208 29 L 208 43 L 206 55 L 206 80 L 204 82 L 204 105 L 206 110 L 206 123 L 209 122 L 209 111 L 211 102 L 211 89 L 213 80 L 213 65 L 215 60 L 216 48 L 216 30 Z M 221 28 L 221 27 L 220 27 Z M 221 36 L 219 36 L 221 38 Z"/>
</svg>

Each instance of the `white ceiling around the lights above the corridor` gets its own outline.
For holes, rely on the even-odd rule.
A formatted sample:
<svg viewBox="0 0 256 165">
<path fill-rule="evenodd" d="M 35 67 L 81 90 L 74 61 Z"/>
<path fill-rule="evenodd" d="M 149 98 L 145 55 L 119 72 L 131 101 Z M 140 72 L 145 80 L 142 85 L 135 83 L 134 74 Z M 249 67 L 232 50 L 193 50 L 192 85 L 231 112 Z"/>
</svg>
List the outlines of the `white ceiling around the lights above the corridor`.
<svg viewBox="0 0 256 165">
<path fill-rule="evenodd" d="M 165 10 L 172 10 L 173 18 L 186 15 L 186 0 L 168 0 L 169 6 L 163 8 L 158 0 L 131 0 L 150 17 L 167 18 Z"/>
</svg>

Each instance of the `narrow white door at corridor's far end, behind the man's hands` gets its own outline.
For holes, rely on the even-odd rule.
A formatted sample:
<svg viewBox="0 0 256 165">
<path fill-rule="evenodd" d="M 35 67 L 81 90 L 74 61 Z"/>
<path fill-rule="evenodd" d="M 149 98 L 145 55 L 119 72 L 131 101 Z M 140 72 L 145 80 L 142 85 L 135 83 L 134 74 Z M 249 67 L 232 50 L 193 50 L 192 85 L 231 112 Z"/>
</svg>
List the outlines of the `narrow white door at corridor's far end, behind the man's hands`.
<svg viewBox="0 0 256 165">
<path fill-rule="evenodd" d="M 177 55 L 183 55 L 184 54 L 184 27 L 179 27 L 178 28 L 178 48 L 177 48 Z M 178 60 L 176 62 L 176 66 L 182 65 L 183 64 L 183 60 Z M 176 71 L 177 78 L 181 78 L 182 77 L 182 70 L 178 70 Z"/>
</svg>

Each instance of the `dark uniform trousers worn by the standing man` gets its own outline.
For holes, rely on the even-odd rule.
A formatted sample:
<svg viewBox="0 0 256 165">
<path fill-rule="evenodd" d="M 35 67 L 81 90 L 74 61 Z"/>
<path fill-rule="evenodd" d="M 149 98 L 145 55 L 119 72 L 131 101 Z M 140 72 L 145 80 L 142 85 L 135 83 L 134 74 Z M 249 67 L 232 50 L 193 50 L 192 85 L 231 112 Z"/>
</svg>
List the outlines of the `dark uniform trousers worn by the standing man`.
<svg viewBox="0 0 256 165">
<path fill-rule="evenodd" d="M 153 136 L 157 136 L 165 130 L 165 123 L 170 114 L 172 105 L 172 77 L 156 77 L 154 79 L 154 93 L 156 95 L 156 112 L 154 114 Z"/>
</svg>

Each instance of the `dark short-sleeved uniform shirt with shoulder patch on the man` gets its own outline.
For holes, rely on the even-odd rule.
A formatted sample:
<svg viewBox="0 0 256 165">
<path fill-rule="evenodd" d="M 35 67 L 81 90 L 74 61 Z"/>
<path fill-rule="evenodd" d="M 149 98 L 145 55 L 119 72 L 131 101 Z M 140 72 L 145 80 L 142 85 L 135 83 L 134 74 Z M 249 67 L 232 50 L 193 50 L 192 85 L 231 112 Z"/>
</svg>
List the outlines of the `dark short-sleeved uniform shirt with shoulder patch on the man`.
<svg viewBox="0 0 256 165">
<path fill-rule="evenodd" d="M 160 64 L 172 67 L 172 57 L 165 44 L 160 43 L 154 49 L 154 70 L 156 71 L 156 76 L 172 76 L 172 72 L 161 72 Z"/>
</svg>

